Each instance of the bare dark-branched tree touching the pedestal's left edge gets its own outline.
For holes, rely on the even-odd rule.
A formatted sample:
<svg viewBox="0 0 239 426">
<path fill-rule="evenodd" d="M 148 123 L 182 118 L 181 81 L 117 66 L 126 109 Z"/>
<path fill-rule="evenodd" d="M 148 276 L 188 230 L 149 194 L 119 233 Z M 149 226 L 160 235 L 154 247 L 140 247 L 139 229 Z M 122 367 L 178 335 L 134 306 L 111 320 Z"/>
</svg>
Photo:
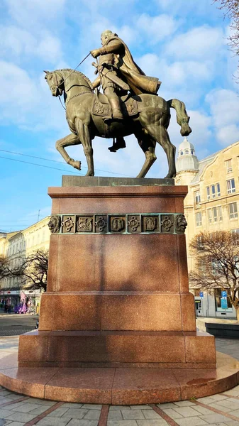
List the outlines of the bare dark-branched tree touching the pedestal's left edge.
<svg viewBox="0 0 239 426">
<path fill-rule="evenodd" d="M 21 279 L 22 288 L 46 290 L 48 256 L 48 251 L 38 250 L 26 258 L 18 258 L 18 265 L 11 269 L 11 276 Z"/>
</svg>

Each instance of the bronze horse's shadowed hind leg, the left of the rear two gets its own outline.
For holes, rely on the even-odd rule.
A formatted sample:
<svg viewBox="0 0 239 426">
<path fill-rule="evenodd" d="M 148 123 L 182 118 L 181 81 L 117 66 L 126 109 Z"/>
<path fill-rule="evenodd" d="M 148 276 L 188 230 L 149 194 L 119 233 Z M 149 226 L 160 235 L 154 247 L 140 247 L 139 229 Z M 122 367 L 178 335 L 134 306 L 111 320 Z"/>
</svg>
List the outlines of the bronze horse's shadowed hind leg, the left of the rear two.
<svg viewBox="0 0 239 426">
<path fill-rule="evenodd" d="M 135 134 L 135 137 L 138 139 L 140 148 L 145 153 L 145 163 L 143 163 L 143 167 L 140 170 L 137 178 L 144 178 L 145 175 L 147 175 L 148 170 L 150 170 L 151 165 L 155 163 L 155 160 L 157 160 L 155 155 L 156 142 L 143 131 L 141 133 Z"/>
</svg>

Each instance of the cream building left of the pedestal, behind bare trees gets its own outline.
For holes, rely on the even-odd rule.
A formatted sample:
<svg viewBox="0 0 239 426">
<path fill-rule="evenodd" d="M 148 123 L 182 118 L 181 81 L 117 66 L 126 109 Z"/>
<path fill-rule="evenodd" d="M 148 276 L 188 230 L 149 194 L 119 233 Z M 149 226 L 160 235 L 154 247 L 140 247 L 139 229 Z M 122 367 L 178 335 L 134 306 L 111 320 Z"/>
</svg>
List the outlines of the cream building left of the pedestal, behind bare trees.
<svg viewBox="0 0 239 426">
<path fill-rule="evenodd" d="M 0 235 L 0 256 L 9 259 L 11 268 L 18 266 L 24 258 L 30 256 L 39 249 L 48 250 L 50 244 L 50 230 L 48 228 L 49 217 L 26 229 Z M 21 290 L 21 280 L 18 277 L 4 278 L 0 280 L 0 302 L 11 305 L 11 310 L 20 304 L 25 297 L 26 302 L 36 310 L 40 302 L 40 290 Z"/>
</svg>

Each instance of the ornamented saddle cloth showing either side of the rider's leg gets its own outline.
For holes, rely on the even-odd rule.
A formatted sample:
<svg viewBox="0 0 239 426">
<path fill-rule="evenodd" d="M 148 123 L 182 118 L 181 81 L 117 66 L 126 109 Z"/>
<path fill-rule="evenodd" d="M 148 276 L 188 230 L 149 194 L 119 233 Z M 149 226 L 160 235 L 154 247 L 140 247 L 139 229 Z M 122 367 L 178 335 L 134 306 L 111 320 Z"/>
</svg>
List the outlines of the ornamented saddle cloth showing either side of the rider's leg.
<svg viewBox="0 0 239 426">
<path fill-rule="evenodd" d="M 120 97 L 121 99 L 121 111 L 123 116 L 135 116 L 138 114 L 138 104 L 130 94 Z M 112 119 L 112 110 L 109 104 L 109 100 L 106 95 L 98 92 L 91 107 L 91 114 L 95 116 L 104 117 L 104 120 Z"/>
</svg>

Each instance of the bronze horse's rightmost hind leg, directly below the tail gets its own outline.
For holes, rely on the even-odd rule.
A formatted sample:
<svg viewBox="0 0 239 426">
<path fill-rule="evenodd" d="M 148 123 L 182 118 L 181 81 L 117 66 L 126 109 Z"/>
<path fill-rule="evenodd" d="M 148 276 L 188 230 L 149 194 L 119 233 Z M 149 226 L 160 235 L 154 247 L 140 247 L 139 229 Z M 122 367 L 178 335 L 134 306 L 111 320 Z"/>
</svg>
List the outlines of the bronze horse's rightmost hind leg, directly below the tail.
<svg viewBox="0 0 239 426">
<path fill-rule="evenodd" d="M 160 143 L 162 148 L 165 150 L 167 155 L 167 162 L 169 165 L 169 172 L 167 173 L 166 178 L 175 178 L 176 176 L 176 166 L 175 166 L 175 153 L 176 148 L 172 145 L 169 133 L 167 133 L 167 129 L 162 124 L 148 124 L 145 126 L 145 129 L 148 131 L 150 136 L 154 138 L 155 141 Z"/>
</svg>

